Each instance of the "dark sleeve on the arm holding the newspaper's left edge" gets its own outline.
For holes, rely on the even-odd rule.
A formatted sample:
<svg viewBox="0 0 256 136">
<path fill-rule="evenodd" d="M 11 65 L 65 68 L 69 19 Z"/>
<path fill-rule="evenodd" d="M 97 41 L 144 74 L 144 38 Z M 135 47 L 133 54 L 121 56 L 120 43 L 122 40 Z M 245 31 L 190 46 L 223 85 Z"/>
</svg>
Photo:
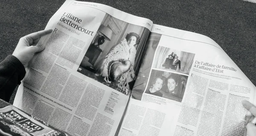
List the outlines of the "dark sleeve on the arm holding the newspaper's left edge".
<svg viewBox="0 0 256 136">
<path fill-rule="evenodd" d="M 0 99 L 9 101 L 10 97 L 26 74 L 23 64 L 13 55 L 0 63 Z"/>
</svg>

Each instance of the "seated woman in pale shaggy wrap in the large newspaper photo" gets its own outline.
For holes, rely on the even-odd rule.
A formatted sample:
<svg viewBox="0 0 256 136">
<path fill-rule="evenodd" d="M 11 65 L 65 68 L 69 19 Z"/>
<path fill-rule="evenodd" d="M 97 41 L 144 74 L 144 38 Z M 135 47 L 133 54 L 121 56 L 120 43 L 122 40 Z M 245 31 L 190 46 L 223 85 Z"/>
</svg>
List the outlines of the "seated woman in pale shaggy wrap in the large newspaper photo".
<svg viewBox="0 0 256 136">
<path fill-rule="evenodd" d="M 129 60 L 131 61 L 131 67 L 134 66 L 135 56 L 136 56 L 136 48 L 135 45 L 140 43 L 140 35 L 138 35 L 135 32 L 130 32 L 126 35 L 124 39 L 122 39 L 119 43 L 117 43 L 113 48 L 108 52 L 108 54 L 105 56 L 104 60 L 100 64 L 100 67 L 98 69 L 99 75 L 104 77 L 104 80 L 107 83 L 110 83 L 108 76 L 109 71 L 115 71 L 115 69 L 110 69 L 110 65 L 113 62 L 120 61 L 120 63 L 123 62 L 123 60 Z M 121 61 L 122 60 L 122 61 Z M 124 64 L 125 65 L 125 64 Z M 123 69 L 120 72 L 127 72 L 128 69 Z M 120 76 L 123 75 L 123 73 L 119 73 Z M 116 80 L 116 79 L 111 79 Z"/>
</svg>

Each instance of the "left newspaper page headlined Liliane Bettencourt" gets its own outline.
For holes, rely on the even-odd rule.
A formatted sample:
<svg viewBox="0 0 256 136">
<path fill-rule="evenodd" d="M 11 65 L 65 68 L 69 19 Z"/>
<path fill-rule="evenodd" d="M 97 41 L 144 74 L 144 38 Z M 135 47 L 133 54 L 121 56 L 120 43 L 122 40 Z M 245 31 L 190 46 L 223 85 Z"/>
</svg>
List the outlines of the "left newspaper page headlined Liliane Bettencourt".
<svg viewBox="0 0 256 136">
<path fill-rule="evenodd" d="M 49 20 L 14 105 L 74 136 L 113 136 L 145 54 L 152 21 L 67 0 Z"/>
</svg>

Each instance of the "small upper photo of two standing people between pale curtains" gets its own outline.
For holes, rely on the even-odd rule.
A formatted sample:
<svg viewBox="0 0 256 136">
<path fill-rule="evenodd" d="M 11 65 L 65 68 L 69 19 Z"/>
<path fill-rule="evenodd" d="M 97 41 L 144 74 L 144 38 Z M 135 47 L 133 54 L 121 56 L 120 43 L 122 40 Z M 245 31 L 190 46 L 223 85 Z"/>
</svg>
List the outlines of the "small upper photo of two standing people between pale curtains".
<svg viewBox="0 0 256 136">
<path fill-rule="evenodd" d="M 189 75 L 194 58 L 194 53 L 159 46 L 155 54 L 152 68 Z"/>
</svg>

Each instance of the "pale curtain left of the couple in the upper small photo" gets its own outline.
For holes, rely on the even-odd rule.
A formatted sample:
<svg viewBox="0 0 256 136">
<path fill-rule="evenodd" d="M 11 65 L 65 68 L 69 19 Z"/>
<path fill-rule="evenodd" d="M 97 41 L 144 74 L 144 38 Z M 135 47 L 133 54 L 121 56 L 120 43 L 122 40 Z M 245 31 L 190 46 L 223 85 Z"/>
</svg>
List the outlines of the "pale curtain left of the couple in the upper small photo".
<svg viewBox="0 0 256 136">
<path fill-rule="evenodd" d="M 155 64 L 156 64 L 156 68 L 161 68 L 162 64 L 164 63 L 164 61 L 166 60 L 166 56 L 168 55 L 170 49 L 163 47 L 163 46 L 159 46 L 159 48 L 157 49 L 156 52 L 156 57 L 155 59 Z"/>
</svg>

